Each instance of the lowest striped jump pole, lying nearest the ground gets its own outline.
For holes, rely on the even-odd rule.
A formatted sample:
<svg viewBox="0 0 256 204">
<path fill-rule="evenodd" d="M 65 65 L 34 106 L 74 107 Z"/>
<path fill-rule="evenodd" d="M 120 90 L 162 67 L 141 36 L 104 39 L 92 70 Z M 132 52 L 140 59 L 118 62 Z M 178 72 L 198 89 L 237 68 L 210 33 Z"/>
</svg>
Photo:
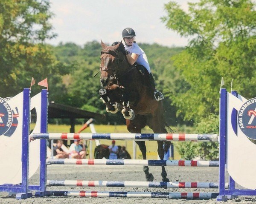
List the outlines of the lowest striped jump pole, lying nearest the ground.
<svg viewBox="0 0 256 204">
<path fill-rule="evenodd" d="M 119 197 L 119 198 L 183 198 L 183 199 L 210 199 L 216 198 L 218 193 L 165 193 L 165 192 L 115 192 L 115 191 L 54 191 L 48 193 L 53 196 L 79 197 Z"/>
</svg>

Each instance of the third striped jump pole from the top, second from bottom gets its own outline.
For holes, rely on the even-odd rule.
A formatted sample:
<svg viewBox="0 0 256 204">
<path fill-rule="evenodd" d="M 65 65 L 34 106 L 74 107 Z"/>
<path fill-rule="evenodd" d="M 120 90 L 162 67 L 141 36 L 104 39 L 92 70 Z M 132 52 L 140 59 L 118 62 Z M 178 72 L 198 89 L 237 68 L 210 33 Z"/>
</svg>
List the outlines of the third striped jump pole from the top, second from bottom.
<svg viewBox="0 0 256 204">
<path fill-rule="evenodd" d="M 48 186 L 77 187 L 146 187 L 146 188 L 218 188 L 213 182 L 148 182 L 148 181 L 83 181 L 83 180 L 47 180 Z M 227 187 L 228 183 L 226 183 Z"/>
</svg>

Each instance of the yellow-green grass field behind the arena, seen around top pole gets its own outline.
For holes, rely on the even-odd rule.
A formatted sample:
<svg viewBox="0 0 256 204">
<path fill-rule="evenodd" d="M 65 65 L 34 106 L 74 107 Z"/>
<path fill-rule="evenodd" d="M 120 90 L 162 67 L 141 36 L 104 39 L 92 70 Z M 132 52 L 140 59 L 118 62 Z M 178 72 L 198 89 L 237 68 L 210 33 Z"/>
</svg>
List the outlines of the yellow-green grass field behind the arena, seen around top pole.
<svg viewBox="0 0 256 204">
<path fill-rule="evenodd" d="M 75 126 L 75 132 L 77 132 L 82 125 L 76 125 Z M 128 130 L 126 129 L 125 125 L 94 125 L 95 130 L 97 133 L 129 133 Z M 30 129 L 33 129 L 35 127 L 35 124 L 30 125 Z M 175 131 L 175 133 L 191 133 L 193 132 L 192 127 L 172 127 L 172 129 Z M 178 131 L 180 130 L 180 131 Z M 53 125 L 53 124 L 48 124 L 48 133 L 69 133 L 70 132 L 70 126 L 69 125 Z M 90 127 L 85 129 L 83 133 L 90 133 Z M 145 127 L 142 130 L 142 133 L 153 133 L 152 130 L 149 127 Z M 83 141 L 82 141 L 83 142 Z M 89 145 L 88 141 L 87 145 Z M 147 147 L 147 159 L 157 159 L 157 142 L 156 141 L 145 141 L 146 142 L 146 147 Z M 70 141 L 67 143 L 70 145 Z M 106 144 L 110 145 L 111 140 L 101 140 L 100 144 Z M 118 140 L 116 141 L 116 145 L 120 146 L 126 146 L 126 150 L 128 153 L 130 153 L 131 157 L 133 157 L 133 141 L 131 140 Z M 175 142 L 174 142 L 175 146 Z M 93 147 L 93 153 L 94 149 L 96 147 L 95 142 L 92 142 L 92 147 Z M 89 151 L 89 150 L 88 150 Z M 136 159 L 142 159 L 142 154 L 140 152 L 139 147 L 137 146 L 137 154 L 136 154 Z M 180 159 L 180 155 L 178 154 L 178 151 L 175 151 L 174 147 L 174 159 Z"/>
</svg>

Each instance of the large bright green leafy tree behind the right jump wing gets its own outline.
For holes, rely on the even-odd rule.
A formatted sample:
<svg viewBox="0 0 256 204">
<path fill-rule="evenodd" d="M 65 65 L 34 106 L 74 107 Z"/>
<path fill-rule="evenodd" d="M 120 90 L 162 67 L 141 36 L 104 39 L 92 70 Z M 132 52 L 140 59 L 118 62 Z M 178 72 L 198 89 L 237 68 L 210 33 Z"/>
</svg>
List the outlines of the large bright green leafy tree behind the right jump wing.
<svg viewBox="0 0 256 204">
<path fill-rule="evenodd" d="M 250 0 L 201 0 L 183 11 L 177 3 L 165 5 L 166 27 L 191 37 L 189 45 L 173 57 L 175 67 L 189 84 L 174 96 L 177 113 L 199 121 L 218 114 L 221 77 L 245 97 L 256 88 L 256 12 Z M 229 86 L 227 86 L 229 87 Z"/>
</svg>

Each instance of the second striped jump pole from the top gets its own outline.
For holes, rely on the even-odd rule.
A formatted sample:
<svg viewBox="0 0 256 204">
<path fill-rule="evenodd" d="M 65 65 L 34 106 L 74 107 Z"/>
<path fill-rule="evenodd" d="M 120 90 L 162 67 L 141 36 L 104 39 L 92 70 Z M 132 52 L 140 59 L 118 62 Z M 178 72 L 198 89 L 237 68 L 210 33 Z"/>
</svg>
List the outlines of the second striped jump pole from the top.
<svg viewBox="0 0 256 204">
<path fill-rule="evenodd" d="M 146 159 L 47 159 L 47 164 L 218 167 L 219 161 L 146 160 Z"/>
</svg>

